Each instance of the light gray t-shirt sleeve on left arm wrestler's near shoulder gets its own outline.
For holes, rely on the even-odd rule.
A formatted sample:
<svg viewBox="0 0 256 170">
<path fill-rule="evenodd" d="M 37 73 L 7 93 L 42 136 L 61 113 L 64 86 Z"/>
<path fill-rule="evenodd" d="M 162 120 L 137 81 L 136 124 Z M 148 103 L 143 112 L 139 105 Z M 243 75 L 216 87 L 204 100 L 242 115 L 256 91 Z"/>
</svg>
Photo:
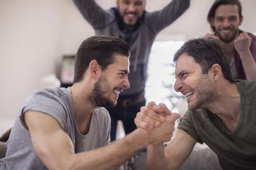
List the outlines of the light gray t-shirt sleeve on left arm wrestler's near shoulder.
<svg viewBox="0 0 256 170">
<path fill-rule="evenodd" d="M 34 91 L 24 102 L 20 110 L 20 122 L 23 127 L 26 127 L 23 121 L 23 114 L 26 111 L 38 111 L 49 116 L 52 116 L 64 129 L 66 125 L 67 114 L 64 109 L 62 100 L 47 91 L 37 90 Z"/>
</svg>

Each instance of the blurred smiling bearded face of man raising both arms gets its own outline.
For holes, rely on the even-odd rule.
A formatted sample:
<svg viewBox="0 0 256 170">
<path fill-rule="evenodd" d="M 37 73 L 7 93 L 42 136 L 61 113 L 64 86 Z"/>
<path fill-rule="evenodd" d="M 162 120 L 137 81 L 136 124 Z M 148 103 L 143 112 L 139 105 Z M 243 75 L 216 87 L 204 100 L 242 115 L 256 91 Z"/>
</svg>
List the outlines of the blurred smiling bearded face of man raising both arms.
<svg viewBox="0 0 256 170">
<path fill-rule="evenodd" d="M 128 27 L 135 25 L 145 9 L 145 0 L 116 0 L 116 4 L 123 22 Z"/>
</svg>

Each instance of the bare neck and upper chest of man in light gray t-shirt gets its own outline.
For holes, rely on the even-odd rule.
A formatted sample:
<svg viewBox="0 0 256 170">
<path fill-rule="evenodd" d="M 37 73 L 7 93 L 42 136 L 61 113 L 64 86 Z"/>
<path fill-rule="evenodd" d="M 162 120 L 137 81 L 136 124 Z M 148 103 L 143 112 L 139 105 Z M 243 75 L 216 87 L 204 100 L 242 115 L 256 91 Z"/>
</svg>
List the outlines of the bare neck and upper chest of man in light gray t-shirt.
<svg viewBox="0 0 256 170">
<path fill-rule="evenodd" d="M 92 112 L 96 108 L 87 98 L 90 88 L 83 86 L 84 84 L 79 82 L 71 87 L 73 112 L 80 133 L 89 131 Z"/>
</svg>

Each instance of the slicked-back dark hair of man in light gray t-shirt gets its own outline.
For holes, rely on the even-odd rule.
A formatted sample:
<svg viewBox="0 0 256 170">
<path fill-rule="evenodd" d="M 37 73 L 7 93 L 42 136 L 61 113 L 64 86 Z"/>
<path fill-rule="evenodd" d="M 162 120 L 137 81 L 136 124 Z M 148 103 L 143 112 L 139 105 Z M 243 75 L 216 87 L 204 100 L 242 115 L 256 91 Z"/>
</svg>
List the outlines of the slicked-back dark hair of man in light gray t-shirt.
<svg viewBox="0 0 256 170">
<path fill-rule="evenodd" d="M 130 46 L 124 40 L 112 36 L 95 35 L 84 40 L 75 57 L 75 74 L 73 82 L 83 79 L 85 70 L 90 62 L 95 59 L 101 70 L 104 71 L 108 65 L 116 61 L 116 55 L 130 57 Z"/>
</svg>

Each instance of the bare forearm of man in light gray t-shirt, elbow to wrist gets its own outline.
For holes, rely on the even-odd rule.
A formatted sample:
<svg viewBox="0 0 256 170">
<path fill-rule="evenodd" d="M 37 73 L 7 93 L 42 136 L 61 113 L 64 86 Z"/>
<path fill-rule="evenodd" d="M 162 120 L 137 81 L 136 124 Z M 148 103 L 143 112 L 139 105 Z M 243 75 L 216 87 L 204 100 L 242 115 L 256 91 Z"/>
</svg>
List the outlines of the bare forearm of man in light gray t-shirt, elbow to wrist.
<svg viewBox="0 0 256 170">
<path fill-rule="evenodd" d="M 148 144 L 140 131 L 134 130 L 106 147 L 73 155 L 72 170 L 116 170 Z"/>
</svg>

